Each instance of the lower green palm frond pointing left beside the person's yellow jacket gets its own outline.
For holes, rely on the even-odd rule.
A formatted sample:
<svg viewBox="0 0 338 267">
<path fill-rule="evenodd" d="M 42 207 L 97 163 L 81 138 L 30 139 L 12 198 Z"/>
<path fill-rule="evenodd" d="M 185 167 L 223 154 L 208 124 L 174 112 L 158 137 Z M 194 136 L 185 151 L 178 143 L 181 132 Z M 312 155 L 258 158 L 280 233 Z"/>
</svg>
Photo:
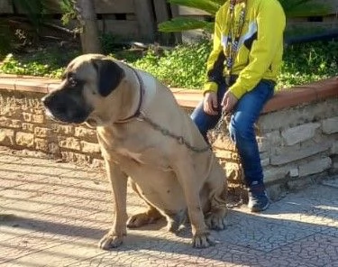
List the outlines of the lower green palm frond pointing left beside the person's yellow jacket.
<svg viewBox="0 0 338 267">
<path fill-rule="evenodd" d="M 205 29 L 209 30 L 213 28 L 211 24 L 201 20 L 196 20 L 193 18 L 177 17 L 171 21 L 163 22 L 159 24 L 160 32 L 182 32 L 196 29 Z"/>
</svg>

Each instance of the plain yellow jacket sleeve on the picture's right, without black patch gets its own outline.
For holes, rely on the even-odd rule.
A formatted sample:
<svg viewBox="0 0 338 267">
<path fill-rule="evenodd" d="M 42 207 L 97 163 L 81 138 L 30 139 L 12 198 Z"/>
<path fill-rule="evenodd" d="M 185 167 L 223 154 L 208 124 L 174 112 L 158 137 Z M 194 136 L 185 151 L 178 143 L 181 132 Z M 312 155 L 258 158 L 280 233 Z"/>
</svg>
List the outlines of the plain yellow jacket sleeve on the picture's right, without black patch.
<svg viewBox="0 0 338 267">
<path fill-rule="evenodd" d="M 256 23 L 258 35 L 252 43 L 249 64 L 230 87 L 238 99 L 257 86 L 279 50 L 279 44 L 283 42 L 286 19 L 278 1 L 261 1 Z"/>
</svg>

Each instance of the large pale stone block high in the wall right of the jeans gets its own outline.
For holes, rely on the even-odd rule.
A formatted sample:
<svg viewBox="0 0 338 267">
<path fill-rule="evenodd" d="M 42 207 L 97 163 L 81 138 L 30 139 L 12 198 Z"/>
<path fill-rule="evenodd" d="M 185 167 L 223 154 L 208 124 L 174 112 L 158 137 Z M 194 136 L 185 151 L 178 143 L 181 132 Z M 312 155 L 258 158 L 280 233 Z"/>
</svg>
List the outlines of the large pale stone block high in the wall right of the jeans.
<svg viewBox="0 0 338 267">
<path fill-rule="evenodd" d="M 282 131 L 281 135 L 287 145 L 293 145 L 314 137 L 315 130 L 320 126 L 319 123 L 302 124 Z"/>
</svg>

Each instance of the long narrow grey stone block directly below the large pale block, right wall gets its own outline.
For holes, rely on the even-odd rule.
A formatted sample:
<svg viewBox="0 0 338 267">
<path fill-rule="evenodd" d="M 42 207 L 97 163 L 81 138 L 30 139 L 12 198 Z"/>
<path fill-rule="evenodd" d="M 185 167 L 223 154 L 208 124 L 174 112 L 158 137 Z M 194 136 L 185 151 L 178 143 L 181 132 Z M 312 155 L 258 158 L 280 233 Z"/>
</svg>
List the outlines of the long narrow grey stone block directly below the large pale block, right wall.
<svg viewBox="0 0 338 267">
<path fill-rule="evenodd" d="M 300 148 L 299 150 L 295 149 L 294 152 L 272 155 L 270 157 L 270 164 L 274 166 L 279 166 L 288 162 L 306 159 L 307 157 L 315 155 L 316 153 L 324 152 L 330 147 L 330 143 L 318 143 L 312 147 Z"/>
</svg>

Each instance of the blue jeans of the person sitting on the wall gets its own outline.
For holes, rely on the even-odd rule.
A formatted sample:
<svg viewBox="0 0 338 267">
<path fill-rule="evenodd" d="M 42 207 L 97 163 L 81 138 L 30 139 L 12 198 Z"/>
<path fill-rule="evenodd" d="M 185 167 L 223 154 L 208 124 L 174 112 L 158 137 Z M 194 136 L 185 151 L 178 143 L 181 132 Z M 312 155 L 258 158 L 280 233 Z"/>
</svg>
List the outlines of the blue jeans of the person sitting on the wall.
<svg viewBox="0 0 338 267">
<path fill-rule="evenodd" d="M 269 80 L 261 80 L 257 87 L 244 94 L 233 108 L 233 115 L 229 124 L 229 133 L 232 141 L 236 144 L 242 161 L 244 182 L 248 187 L 253 184 L 263 184 L 263 170 L 260 165 L 260 152 L 254 131 L 254 124 L 260 112 L 273 96 L 275 84 Z M 205 137 L 207 131 L 214 128 L 220 119 L 221 102 L 227 87 L 219 86 L 218 115 L 208 115 L 203 110 L 203 101 L 196 106 L 191 115 L 201 134 Z"/>
</svg>

